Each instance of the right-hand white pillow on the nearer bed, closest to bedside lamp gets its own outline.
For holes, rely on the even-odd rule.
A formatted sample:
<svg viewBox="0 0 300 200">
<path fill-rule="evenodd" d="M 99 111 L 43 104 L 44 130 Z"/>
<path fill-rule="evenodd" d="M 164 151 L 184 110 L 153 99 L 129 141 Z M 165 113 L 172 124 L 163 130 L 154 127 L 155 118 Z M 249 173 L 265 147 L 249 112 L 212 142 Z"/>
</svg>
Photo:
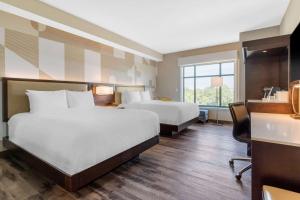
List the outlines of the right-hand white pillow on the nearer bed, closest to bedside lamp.
<svg viewBox="0 0 300 200">
<path fill-rule="evenodd" d="M 92 91 L 67 91 L 67 100 L 69 108 L 91 108 L 95 106 Z"/>
</svg>

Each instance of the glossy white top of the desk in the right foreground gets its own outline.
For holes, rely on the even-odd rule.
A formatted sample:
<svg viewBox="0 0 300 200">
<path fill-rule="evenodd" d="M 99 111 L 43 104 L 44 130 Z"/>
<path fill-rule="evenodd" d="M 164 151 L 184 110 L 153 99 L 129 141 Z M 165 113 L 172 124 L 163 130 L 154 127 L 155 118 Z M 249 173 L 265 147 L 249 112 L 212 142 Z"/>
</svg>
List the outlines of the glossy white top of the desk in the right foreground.
<svg viewBox="0 0 300 200">
<path fill-rule="evenodd" d="M 300 120 L 288 114 L 251 113 L 251 140 L 300 147 Z"/>
</svg>

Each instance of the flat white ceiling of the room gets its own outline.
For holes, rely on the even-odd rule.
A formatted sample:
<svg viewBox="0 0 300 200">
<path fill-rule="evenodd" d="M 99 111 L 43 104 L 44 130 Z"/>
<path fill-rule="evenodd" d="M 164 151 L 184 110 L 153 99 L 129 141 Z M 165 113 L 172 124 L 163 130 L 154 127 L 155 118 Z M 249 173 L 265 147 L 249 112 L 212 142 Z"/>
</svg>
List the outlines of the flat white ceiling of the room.
<svg viewBox="0 0 300 200">
<path fill-rule="evenodd" d="M 160 53 L 225 44 L 279 25 L 289 0 L 42 0 Z"/>
</svg>

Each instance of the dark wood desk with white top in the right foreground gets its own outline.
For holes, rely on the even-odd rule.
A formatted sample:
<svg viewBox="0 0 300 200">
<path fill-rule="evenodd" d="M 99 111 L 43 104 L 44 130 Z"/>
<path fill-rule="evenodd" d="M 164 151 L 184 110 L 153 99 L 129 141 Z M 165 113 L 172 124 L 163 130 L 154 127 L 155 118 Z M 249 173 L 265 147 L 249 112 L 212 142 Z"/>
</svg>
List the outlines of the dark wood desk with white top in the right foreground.
<svg viewBox="0 0 300 200">
<path fill-rule="evenodd" d="M 300 120 L 251 113 L 251 140 L 252 199 L 262 199 L 262 185 L 300 192 Z"/>
</svg>

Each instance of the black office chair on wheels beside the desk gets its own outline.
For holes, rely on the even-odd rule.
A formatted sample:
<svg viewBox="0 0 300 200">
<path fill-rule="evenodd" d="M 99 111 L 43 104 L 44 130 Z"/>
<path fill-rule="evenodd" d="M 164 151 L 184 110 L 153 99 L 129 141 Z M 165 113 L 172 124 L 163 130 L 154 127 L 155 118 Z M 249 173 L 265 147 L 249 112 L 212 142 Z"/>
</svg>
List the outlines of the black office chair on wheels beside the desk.
<svg viewBox="0 0 300 200">
<path fill-rule="evenodd" d="M 233 121 L 233 138 L 239 142 L 247 144 L 247 155 L 249 157 L 237 157 L 232 158 L 229 161 L 231 167 L 234 167 L 234 161 L 246 161 L 251 162 L 251 131 L 250 131 L 250 116 L 244 103 L 231 103 L 229 104 L 229 110 Z M 243 168 L 236 174 L 238 180 L 241 179 L 242 174 L 251 169 L 252 164 Z"/>
</svg>

